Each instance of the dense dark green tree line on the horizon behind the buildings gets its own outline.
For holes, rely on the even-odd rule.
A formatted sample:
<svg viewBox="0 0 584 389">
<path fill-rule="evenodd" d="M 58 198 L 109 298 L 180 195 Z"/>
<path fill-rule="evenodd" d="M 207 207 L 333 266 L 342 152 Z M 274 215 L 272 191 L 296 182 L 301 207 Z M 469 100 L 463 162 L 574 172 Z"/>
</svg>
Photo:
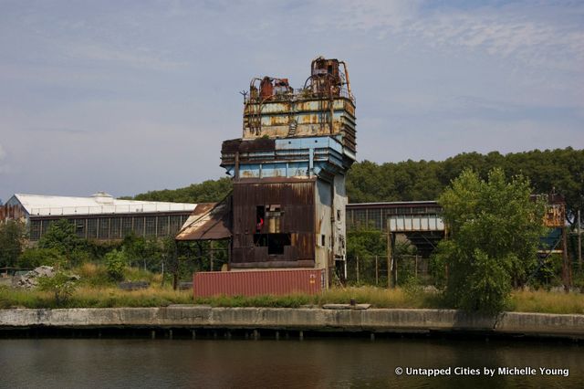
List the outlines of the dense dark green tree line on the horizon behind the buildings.
<svg viewBox="0 0 584 389">
<path fill-rule="evenodd" d="M 502 169 L 506 179 L 518 174 L 527 179 L 537 194 L 556 192 L 566 198 L 568 221 L 573 224 L 577 210 L 584 205 L 584 150 L 571 147 L 530 152 L 463 152 L 444 161 L 404 161 L 400 163 L 354 163 L 347 175 L 350 203 L 436 200 L 464 169 L 472 169 L 486 179 L 494 168 Z M 135 195 L 136 200 L 184 203 L 216 202 L 232 188 L 224 177 Z M 131 197 L 130 197 L 131 198 Z"/>
</svg>

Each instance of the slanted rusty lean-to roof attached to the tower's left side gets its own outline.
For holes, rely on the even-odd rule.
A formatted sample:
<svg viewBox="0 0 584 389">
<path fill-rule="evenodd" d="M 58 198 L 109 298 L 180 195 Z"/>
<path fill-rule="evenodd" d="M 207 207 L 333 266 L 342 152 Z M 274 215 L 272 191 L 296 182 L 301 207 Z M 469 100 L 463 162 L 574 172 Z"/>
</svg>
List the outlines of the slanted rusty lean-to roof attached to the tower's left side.
<svg viewBox="0 0 584 389">
<path fill-rule="evenodd" d="M 176 240 L 216 240 L 231 237 L 231 199 L 199 204 L 184 222 Z"/>
</svg>

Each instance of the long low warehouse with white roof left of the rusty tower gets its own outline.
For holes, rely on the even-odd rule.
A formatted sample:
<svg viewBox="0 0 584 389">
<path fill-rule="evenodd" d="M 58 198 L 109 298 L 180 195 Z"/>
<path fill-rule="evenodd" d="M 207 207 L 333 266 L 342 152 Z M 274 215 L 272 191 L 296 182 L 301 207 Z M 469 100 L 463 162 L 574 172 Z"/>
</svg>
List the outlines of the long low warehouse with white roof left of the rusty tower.
<svg viewBox="0 0 584 389">
<path fill-rule="evenodd" d="M 117 240 L 137 237 L 174 236 L 196 204 L 119 200 L 104 192 L 89 197 L 20 195 L 0 206 L 0 222 L 21 220 L 28 238 L 35 242 L 47 233 L 51 223 L 67 219 L 78 237 Z"/>
</svg>

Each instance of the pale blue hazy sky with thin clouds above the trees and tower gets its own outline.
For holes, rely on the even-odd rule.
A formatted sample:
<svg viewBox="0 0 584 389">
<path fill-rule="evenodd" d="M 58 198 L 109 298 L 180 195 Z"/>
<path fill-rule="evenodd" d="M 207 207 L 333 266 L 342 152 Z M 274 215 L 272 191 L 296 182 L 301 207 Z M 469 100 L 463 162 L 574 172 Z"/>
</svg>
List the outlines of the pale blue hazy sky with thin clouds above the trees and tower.
<svg viewBox="0 0 584 389">
<path fill-rule="evenodd" d="M 250 79 L 348 63 L 358 159 L 584 149 L 584 2 L 0 0 L 0 198 L 224 176 Z"/>
</svg>

